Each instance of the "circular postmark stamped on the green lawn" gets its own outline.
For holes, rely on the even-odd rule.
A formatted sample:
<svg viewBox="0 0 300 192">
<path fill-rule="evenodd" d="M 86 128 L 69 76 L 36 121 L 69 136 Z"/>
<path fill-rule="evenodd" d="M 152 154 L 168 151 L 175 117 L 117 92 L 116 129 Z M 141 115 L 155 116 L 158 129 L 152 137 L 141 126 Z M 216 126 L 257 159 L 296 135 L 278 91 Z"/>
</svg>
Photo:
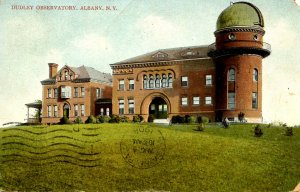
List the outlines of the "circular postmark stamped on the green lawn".
<svg viewBox="0 0 300 192">
<path fill-rule="evenodd" d="M 123 136 L 120 150 L 129 165 L 148 169 L 163 159 L 166 150 L 165 138 L 160 130 L 140 125 Z"/>
</svg>

